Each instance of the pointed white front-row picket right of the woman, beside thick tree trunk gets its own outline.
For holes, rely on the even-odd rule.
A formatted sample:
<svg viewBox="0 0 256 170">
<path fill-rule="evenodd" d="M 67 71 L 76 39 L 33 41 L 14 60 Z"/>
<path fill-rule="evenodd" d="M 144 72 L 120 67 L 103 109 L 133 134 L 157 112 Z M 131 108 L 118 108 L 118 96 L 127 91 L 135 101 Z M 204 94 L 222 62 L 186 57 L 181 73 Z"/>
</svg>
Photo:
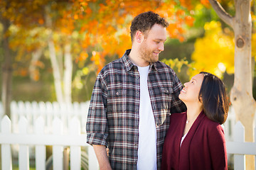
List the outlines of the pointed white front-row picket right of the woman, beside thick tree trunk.
<svg viewBox="0 0 256 170">
<path fill-rule="evenodd" d="M 236 123 L 234 132 L 234 141 L 235 142 L 245 142 L 245 128 L 243 127 L 242 123 L 238 121 Z M 245 169 L 245 155 L 242 154 L 235 154 L 234 155 L 234 169 L 240 170 Z"/>
</svg>

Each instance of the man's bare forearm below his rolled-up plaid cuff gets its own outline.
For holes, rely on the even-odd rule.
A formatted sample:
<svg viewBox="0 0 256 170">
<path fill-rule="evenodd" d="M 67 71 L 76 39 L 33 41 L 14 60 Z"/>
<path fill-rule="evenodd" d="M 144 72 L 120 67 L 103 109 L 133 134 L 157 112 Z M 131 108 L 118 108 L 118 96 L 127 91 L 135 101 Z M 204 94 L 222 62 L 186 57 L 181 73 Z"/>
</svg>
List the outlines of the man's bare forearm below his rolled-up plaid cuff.
<svg viewBox="0 0 256 170">
<path fill-rule="evenodd" d="M 92 145 L 95 150 L 97 160 L 100 165 L 100 170 L 111 170 L 110 161 L 107 157 L 107 150 L 104 145 Z"/>
</svg>

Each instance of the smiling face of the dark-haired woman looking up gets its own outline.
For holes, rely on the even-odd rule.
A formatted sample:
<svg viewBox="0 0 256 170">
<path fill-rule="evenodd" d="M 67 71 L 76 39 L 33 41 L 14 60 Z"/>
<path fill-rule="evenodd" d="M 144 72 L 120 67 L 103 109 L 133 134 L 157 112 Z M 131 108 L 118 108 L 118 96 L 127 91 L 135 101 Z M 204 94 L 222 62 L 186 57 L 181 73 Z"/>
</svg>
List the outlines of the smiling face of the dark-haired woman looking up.
<svg viewBox="0 0 256 170">
<path fill-rule="evenodd" d="M 181 93 L 178 98 L 184 103 L 200 102 L 198 100 L 199 91 L 203 82 L 203 74 L 196 74 L 196 76 L 191 78 L 191 81 L 184 84 Z"/>
</svg>

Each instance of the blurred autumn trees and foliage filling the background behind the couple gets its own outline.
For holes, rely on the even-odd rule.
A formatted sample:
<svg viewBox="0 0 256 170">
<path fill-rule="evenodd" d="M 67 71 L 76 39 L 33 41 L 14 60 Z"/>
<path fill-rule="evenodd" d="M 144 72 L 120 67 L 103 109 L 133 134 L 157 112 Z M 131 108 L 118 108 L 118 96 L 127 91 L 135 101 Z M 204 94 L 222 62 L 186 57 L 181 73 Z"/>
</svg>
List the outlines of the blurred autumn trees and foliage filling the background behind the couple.
<svg viewBox="0 0 256 170">
<path fill-rule="evenodd" d="M 235 13 L 233 1 L 220 4 Z M 233 31 L 207 0 L 9 0 L 0 1 L 0 10 L 2 102 L 90 100 L 97 72 L 131 47 L 130 23 L 144 11 L 169 21 L 160 60 L 183 83 L 208 71 L 222 77 L 228 91 L 233 86 Z"/>
</svg>

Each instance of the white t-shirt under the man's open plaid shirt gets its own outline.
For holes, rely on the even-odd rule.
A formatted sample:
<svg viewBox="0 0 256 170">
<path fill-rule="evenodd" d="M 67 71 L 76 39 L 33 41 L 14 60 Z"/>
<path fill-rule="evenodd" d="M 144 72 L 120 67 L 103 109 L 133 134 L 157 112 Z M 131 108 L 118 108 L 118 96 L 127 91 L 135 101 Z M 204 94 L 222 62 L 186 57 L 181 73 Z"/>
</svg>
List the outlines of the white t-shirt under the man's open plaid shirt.
<svg viewBox="0 0 256 170">
<path fill-rule="evenodd" d="M 157 169 L 156 165 L 156 123 L 149 98 L 147 77 L 149 66 L 138 67 L 140 77 L 139 100 L 139 148 L 137 169 Z"/>
</svg>

